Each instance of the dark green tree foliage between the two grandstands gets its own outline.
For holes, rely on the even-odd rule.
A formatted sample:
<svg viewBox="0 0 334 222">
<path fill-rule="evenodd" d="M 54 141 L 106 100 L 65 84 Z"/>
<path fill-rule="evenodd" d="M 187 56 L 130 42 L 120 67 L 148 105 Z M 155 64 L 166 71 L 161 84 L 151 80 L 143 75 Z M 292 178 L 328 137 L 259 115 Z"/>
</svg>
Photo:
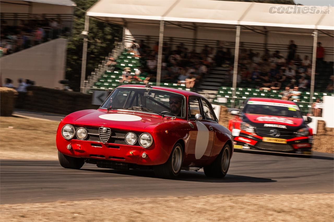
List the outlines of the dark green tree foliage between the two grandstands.
<svg viewBox="0 0 334 222">
<path fill-rule="evenodd" d="M 79 91 L 81 77 L 81 59 L 83 39 L 80 37 L 85 28 L 85 12 L 97 0 L 74 1 L 77 5 L 74 11 L 72 33 L 67 44 L 66 79 L 71 82 L 71 88 Z M 115 47 L 115 42 L 122 38 L 123 28 L 90 18 L 86 78 L 98 67 L 98 64 Z"/>
</svg>

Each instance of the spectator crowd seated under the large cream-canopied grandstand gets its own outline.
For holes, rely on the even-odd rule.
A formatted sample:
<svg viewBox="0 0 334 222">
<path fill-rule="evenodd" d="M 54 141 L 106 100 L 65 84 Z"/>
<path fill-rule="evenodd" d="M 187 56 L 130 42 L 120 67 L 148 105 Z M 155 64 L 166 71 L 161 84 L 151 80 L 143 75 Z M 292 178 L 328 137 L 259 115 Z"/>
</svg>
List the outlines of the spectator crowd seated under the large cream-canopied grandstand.
<svg viewBox="0 0 334 222">
<path fill-rule="evenodd" d="M 204 46 L 202 50 L 196 52 L 189 50 L 183 43 L 177 45 L 174 50 L 166 43 L 163 43 L 161 82 L 185 84 L 186 88 L 195 89 L 201 80 L 208 74 L 212 67 L 227 67 L 229 71 L 222 74 L 223 84 L 232 83 L 234 56 L 231 49 L 220 45 L 216 49 Z M 312 62 L 309 56 L 301 58 L 297 54 L 298 46 L 293 40 L 287 47 L 287 56 L 276 50 L 270 52 L 268 49 L 261 55 L 253 52 L 252 49 L 240 49 L 237 83 L 253 83 L 260 90 L 279 90 L 288 87 L 297 87 L 300 91 L 308 90 L 311 81 Z M 134 42 L 130 52 L 141 57 L 145 63 L 131 75 L 130 67 L 126 67 L 123 72 L 123 81 L 143 81 L 155 82 L 157 73 L 158 42 L 153 47 L 141 41 L 140 44 Z M 321 64 L 325 50 L 318 42 L 317 63 Z M 110 58 L 107 63 L 110 66 L 116 64 L 115 59 Z M 316 74 L 317 75 L 317 74 Z M 329 84 L 328 91 L 333 90 L 333 84 Z M 296 97 L 296 96 L 294 96 Z M 292 98 L 289 99 L 298 99 Z"/>
</svg>

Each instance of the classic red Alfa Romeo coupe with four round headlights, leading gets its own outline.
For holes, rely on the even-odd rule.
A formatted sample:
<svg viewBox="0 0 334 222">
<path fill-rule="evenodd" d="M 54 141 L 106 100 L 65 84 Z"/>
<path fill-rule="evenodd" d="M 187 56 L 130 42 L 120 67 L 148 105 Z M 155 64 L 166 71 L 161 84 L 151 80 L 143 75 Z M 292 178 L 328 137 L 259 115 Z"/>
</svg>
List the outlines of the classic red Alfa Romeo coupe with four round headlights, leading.
<svg viewBox="0 0 334 222">
<path fill-rule="evenodd" d="M 231 132 L 197 93 L 150 85 L 117 87 L 98 110 L 67 115 L 56 135 L 59 163 L 111 169 L 153 169 L 173 178 L 204 167 L 224 177 L 233 153 Z"/>
</svg>

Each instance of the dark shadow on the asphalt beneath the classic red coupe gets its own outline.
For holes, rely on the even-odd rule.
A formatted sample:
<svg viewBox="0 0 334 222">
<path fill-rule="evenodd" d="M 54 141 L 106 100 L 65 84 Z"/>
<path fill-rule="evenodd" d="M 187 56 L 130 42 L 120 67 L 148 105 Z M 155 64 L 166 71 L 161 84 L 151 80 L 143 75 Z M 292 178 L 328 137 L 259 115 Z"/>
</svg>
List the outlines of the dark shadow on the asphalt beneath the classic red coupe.
<svg viewBox="0 0 334 222">
<path fill-rule="evenodd" d="M 141 177 L 150 177 L 157 178 L 153 170 L 116 170 L 116 169 L 80 169 L 85 171 L 94 171 L 94 172 L 103 172 L 103 173 L 115 173 L 120 175 L 128 176 L 141 176 Z M 224 178 L 211 178 L 206 177 L 204 172 L 195 172 L 195 171 L 185 171 L 182 170 L 176 181 L 190 181 L 190 182 L 206 182 L 206 183 L 240 183 L 240 182 L 251 182 L 251 183 L 266 183 L 266 182 L 277 182 L 277 180 L 272 180 L 270 178 L 261 178 L 261 177 L 252 177 L 252 176 L 242 176 L 242 175 L 233 175 L 227 174 Z"/>
</svg>

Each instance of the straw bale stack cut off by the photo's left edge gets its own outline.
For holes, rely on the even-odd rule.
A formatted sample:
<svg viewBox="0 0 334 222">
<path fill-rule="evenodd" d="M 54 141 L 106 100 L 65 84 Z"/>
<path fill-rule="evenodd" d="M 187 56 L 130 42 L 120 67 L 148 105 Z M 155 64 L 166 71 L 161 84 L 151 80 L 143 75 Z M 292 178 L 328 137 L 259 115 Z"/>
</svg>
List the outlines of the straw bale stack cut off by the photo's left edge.
<svg viewBox="0 0 334 222">
<path fill-rule="evenodd" d="M 0 87 L 0 115 L 10 116 L 13 113 L 17 98 L 17 91 L 7 87 Z"/>
</svg>

